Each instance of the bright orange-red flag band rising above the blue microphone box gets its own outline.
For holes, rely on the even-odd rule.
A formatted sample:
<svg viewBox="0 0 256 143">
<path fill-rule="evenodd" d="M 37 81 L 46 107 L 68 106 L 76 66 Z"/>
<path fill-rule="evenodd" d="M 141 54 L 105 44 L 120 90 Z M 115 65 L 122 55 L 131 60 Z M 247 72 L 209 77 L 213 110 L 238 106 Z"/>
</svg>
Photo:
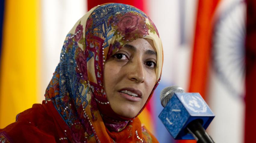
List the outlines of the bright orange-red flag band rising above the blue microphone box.
<svg viewBox="0 0 256 143">
<path fill-rule="evenodd" d="M 208 78 L 212 20 L 219 1 L 199 0 L 198 2 L 189 92 L 199 92 L 203 98 L 205 98 L 205 86 Z"/>
</svg>

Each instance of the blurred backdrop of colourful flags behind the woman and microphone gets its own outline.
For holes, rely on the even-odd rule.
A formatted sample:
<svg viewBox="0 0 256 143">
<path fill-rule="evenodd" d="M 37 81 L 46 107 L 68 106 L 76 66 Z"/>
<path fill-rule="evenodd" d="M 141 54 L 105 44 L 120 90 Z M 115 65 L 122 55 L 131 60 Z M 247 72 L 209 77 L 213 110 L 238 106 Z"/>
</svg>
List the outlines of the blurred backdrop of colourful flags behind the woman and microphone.
<svg viewBox="0 0 256 143">
<path fill-rule="evenodd" d="M 245 87 L 255 87 L 253 80 L 245 80 L 246 17 L 255 19 L 255 12 L 246 14 L 245 1 L 0 1 L 0 128 L 15 122 L 16 115 L 34 103 L 42 103 L 66 34 L 76 21 L 96 5 L 117 2 L 144 11 L 154 21 L 162 39 L 161 82 L 139 116 L 159 142 L 195 142 L 174 141 L 158 119 L 163 109 L 160 91 L 170 85 L 203 96 L 216 116 L 207 129 L 215 142 L 256 142 L 256 117 L 251 115 L 256 110 L 255 97 Z M 255 61 L 255 52 L 251 57 Z"/>
</svg>

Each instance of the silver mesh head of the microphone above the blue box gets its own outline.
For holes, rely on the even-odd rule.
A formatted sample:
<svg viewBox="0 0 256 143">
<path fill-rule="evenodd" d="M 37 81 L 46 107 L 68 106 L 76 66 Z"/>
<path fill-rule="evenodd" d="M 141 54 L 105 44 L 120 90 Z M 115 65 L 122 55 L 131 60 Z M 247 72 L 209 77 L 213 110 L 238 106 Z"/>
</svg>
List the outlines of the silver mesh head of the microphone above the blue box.
<svg viewBox="0 0 256 143">
<path fill-rule="evenodd" d="M 183 93 L 184 90 L 181 87 L 174 85 L 168 86 L 160 92 L 160 101 L 163 107 L 166 106 L 175 92 Z"/>
</svg>

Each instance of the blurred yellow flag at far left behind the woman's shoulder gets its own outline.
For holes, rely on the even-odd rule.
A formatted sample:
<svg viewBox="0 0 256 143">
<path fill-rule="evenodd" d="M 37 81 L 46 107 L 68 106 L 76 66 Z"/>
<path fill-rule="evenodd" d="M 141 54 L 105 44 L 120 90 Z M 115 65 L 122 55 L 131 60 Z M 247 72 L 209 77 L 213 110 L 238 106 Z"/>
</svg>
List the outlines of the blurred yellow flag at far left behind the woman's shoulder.
<svg viewBox="0 0 256 143">
<path fill-rule="evenodd" d="M 7 0 L 0 71 L 0 128 L 37 100 L 39 1 Z"/>
</svg>

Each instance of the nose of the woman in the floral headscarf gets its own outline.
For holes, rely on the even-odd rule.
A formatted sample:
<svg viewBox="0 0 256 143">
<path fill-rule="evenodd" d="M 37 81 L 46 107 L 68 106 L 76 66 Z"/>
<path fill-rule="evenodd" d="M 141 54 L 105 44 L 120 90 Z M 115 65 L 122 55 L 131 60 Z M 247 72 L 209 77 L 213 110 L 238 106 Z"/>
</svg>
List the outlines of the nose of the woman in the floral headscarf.
<svg viewBox="0 0 256 143">
<path fill-rule="evenodd" d="M 128 78 L 137 83 L 142 83 L 145 80 L 145 69 L 142 61 L 133 61 L 130 63 L 130 69 L 128 71 Z"/>
</svg>

